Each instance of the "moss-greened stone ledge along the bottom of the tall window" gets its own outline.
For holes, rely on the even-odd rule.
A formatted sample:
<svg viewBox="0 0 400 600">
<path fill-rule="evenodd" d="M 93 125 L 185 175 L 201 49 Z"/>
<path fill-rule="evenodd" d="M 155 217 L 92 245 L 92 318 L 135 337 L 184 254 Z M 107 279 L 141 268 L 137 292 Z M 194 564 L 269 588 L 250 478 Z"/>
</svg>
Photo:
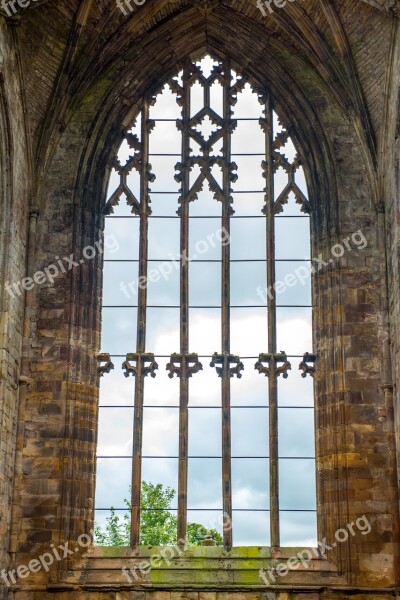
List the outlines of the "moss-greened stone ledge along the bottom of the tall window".
<svg viewBox="0 0 400 600">
<path fill-rule="evenodd" d="M 108 586 L 111 590 L 152 590 L 188 587 L 194 590 L 265 590 L 271 588 L 319 590 L 333 585 L 346 585 L 334 565 L 323 558 L 298 561 L 286 575 L 274 569 L 285 566 L 290 558 L 302 552 L 312 556 L 313 548 L 175 547 L 130 548 L 96 547 L 72 559 L 62 582 L 90 591 Z M 148 567 L 146 567 L 148 565 Z M 260 571 L 270 572 L 263 580 Z M 273 583 L 272 583 L 273 582 Z"/>
</svg>

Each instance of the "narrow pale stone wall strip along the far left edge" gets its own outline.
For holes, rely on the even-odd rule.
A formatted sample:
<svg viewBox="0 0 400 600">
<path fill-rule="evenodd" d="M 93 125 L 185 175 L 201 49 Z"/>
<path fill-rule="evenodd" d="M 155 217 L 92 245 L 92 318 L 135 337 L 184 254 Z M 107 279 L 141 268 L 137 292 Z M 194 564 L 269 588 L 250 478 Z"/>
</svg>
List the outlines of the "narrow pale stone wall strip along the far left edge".
<svg viewBox="0 0 400 600">
<path fill-rule="evenodd" d="M 29 167 L 15 30 L 0 20 L 0 564 L 7 565 L 14 483 Z"/>
</svg>

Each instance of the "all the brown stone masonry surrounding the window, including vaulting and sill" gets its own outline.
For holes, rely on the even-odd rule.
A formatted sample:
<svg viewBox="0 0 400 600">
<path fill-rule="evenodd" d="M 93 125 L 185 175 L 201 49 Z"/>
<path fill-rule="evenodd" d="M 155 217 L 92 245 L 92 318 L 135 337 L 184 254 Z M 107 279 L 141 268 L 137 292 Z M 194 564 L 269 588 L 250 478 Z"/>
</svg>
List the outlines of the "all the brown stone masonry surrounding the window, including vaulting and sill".
<svg viewBox="0 0 400 600">
<path fill-rule="evenodd" d="M 267 3 L 268 4 L 268 3 Z M 278 548 L 198 548 L 129 583 L 149 548 L 87 548 L 5 600 L 388 600 L 399 587 L 398 0 L 5 0 L 0 8 L 0 571 L 93 526 L 101 257 L 7 291 L 101 236 L 110 158 L 135 105 L 188 54 L 267 85 L 307 157 L 313 255 L 361 229 L 313 281 L 319 539 L 266 587 Z M 14 8 L 13 8 L 14 7 Z M 14 10 L 15 9 L 15 10 Z"/>
</svg>

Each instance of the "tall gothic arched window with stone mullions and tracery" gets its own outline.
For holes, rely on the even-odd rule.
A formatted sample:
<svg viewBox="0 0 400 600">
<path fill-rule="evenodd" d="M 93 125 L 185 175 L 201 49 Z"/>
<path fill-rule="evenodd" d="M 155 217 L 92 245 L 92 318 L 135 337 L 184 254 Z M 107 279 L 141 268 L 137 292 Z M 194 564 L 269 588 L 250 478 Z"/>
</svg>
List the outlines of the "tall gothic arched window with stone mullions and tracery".
<svg viewBox="0 0 400 600">
<path fill-rule="evenodd" d="M 104 209 L 96 520 L 131 487 L 136 546 L 145 481 L 177 490 L 178 539 L 196 522 L 226 546 L 315 544 L 302 159 L 229 59 L 188 59 L 163 83 Z"/>
</svg>

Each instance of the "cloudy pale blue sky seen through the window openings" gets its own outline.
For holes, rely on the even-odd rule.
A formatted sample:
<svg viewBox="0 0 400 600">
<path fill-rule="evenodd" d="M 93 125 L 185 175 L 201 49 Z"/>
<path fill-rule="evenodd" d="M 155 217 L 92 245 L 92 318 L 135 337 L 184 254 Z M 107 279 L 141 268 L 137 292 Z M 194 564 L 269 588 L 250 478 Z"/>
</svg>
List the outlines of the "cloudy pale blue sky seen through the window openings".
<svg viewBox="0 0 400 600">
<path fill-rule="evenodd" d="M 212 61 L 204 59 L 208 75 Z M 192 89 L 192 115 L 203 106 L 200 85 Z M 211 105 L 221 111 L 221 88 L 215 84 Z M 232 490 L 234 545 L 269 544 L 268 474 L 268 380 L 254 370 L 260 352 L 267 352 L 266 301 L 257 294 L 266 288 L 266 233 L 261 161 L 265 152 L 264 134 L 258 124 L 262 106 L 249 85 L 238 95 L 234 118 L 239 119 L 232 139 L 232 159 L 238 165 L 233 184 L 231 220 L 231 351 L 245 366 L 243 377 L 232 380 Z M 175 96 L 166 88 L 150 117 L 180 117 Z M 240 120 L 240 119 L 254 119 Z M 136 124 L 135 131 L 140 123 Z M 207 137 L 214 126 L 198 127 Z M 275 133 L 280 131 L 275 119 Z M 194 154 L 198 154 L 191 143 Z M 220 154 L 221 143 L 214 147 Z M 168 378 L 167 356 L 179 351 L 179 184 L 174 180 L 180 160 L 181 134 L 175 122 L 158 121 L 150 138 L 152 171 L 152 217 L 149 222 L 149 269 L 154 281 L 148 286 L 146 349 L 154 352 L 159 364 L 155 379 L 146 379 L 144 411 L 143 479 L 177 489 L 179 381 Z M 289 142 L 281 150 L 291 161 L 295 156 Z M 173 153 L 165 157 L 154 154 Z M 119 151 L 125 164 L 130 154 L 126 143 Z M 241 154 L 257 154 L 241 156 Z M 218 169 L 214 171 L 219 179 Z M 191 183 L 195 181 L 193 170 Z M 301 169 L 296 181 L 306 194 Z M 139 176 L 133 172 L 129 185 L 139 195 Z M 283 170 L 275 176 L 276 197 L 287 183 Z M 109 194 L 118 187 L 119 177 L 111 175 Z M 167 194 L 165 192 L 168 192 Z M 244 193 L 243 193 L 244 192 Z M 130 218 L 121 218 L 127 217 Z M 190 380 L 189 484 L 190 521 L 221 529 L 221 381 L 209 367 L 211 355 L 221 350 L 221 204 L 212 198 L 207 184 L 198 200 L 190 205 L 190 351 L 202 356 L 204 370 Z M 170 218 L 165 218 L 170 217 Z M 124 507 L 131 478 L 134 380 L 121 369 L 123 356 L 136 350 L 137 259 L 139 220 L 121 197 L 120 206 L 106 220 L 106 236 L 115 244 L 105 253 L 102 350 L 113 355 L 115 370 L 101 381 L 97 466 L 97 509 Z M 111 238 L 110 238 L 111 239 Z M 116 250 L 116 246 L 118 249 Z M 195 258 L 196 257 L 196 258 Z M 295 273 L 310 259 L 309 218 L 300 212 L 291 195 L 284 213 L 276 218 L 276 278 Z M 171 260 L 172 259 L 172 260 Z M 196 262 L 197 260 L 197 262 Z M 199 260 L 205 262 L 198 262 Z M 130 262 L 126 262 L 130 261 Z M 240 262 L 246 261 L 246 262 Z M 250 261 L 250 262 L 248 262 Z M 157 280 L 158 279 L 158 280 Z M 279 379 L 279 455 L 281 544 L 316 543 L 315 462 L 313 385 L 298 370 L 301 356 L 312 350 L 311 294 L 309 278 L 278 294 L 278 350 L 292 363 L 287 380 Z M 153 307 L 153 308 L 152 308 Z M 202 408 L 203 407 L 203 408 Z M 110 458 L 118 456 L 118 458 Z M 109 458 L 107 458 L 109 457 Z M 154 457 L 154 458 L 151 458 Z M 176 503 L 174 504 L 176 508 Z M 248 510 L 250 509 L 250 510 Z M 253 511 L 253 512 L 252 512 Z M 121 513 L 122 514 L 122 513 Z M 96 520 L 104 523 L 107 512 L 98 510 Z"/>
</svg>

